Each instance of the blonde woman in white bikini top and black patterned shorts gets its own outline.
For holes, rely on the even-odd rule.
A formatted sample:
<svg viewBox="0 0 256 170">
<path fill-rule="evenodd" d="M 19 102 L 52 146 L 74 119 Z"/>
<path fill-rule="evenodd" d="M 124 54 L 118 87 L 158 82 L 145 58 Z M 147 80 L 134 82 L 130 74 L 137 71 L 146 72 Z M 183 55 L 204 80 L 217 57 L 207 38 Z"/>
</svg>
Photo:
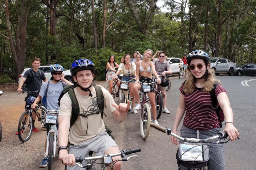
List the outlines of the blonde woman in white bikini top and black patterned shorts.
<svg viewBox="0 0 256 170">
<path fill-rule="evenodd" d="M 161 83 L 161 79 L 158 77 L 158 74 L 156 73 L 155 70 L 155 65 L 153 64 L 152 61 L 149 61 L 151 56 L 152 56 L 153 51 L 148 49 L 144 52 L 144 58 L 142 61 L 137 63 L 137 68 L 136 68 L 136 79 L 140 80 L 142 83 L 151 83 L 154 80 L 152 79 L 152 73 L 153 75 L 157 78 L 157 83 Z M 139 91 L 140 90 L 140 84 L 138 81 L 134 83 L 134 91 Z M 149 101 L 151 105 L 151 110 L 153 113 L 153 118 L 154 121 L 153 123 L 158 124 L 158 121 L 156 120 L 156 106 L 155 106 L 155 87 L 154 85 L 150 86 L 150 92 L 148 92 L 149 96 Z M 134 97 L 136 99 L 137 103 L 140 103 L 139 101 L 139 94 L 134 93 Z M 135 109 L 139 109 L 141 106 L 140 104 L 137 104 Z"/>
</svg>

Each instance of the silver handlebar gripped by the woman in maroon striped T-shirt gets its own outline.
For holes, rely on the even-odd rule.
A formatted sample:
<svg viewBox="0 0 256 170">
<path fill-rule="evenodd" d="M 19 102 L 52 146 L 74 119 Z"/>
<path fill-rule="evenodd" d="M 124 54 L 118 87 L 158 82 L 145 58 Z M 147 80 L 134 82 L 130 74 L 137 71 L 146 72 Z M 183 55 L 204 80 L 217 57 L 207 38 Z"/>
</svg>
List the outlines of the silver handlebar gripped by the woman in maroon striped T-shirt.
<svg viewBox="0 0 256 170">
<path fill-rule="evenodd" d="M 163 128 L 162 126 L 159 126 L 157 124 L 154 124 L 154 123 L 150 123 L 150 126 L 152 128 L 155 128 L 156 130 L 159 130 L 161 132 L 164 132 L 164 133 L 167 133 L 167 135 L 171 135 L 171 136 L 174 136 L 182 141 L 185 141 L 185 142 L 193 142 L 193 143 L 197 143 L 197 142 L 208 142 L 208 141 L 212 141 L 212 140 L 216 140 L 216 139 L 219 139 L 219 140 L 222 140 L 226 137 L 228 137 L 228 134 L 226 132 L 222 132 L 222 131 L 219 131 L 218 132 L 218 135 L 216 136 L 212 136 L 212 137 L 209 137 L 209 138 L 206 138 L 206 139 L 196 139 L 196 138 L 183 138 L 183 137 L 180 137 L 174 133 L 171 132 L 171 128 Z M 240 139 L 238 137 L 238 139 Z"/>
</svg>

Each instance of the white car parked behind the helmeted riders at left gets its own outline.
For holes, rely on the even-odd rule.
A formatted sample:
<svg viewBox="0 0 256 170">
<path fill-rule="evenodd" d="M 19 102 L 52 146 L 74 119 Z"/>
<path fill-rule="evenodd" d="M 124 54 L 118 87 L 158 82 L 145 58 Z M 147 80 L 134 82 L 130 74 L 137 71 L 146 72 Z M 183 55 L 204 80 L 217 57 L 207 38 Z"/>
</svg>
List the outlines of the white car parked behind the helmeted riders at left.
<svg viewBox="0 0 256 170">
<path fill-rule="evenodd" d="M 53 65 L 53 64 L 39 66 L 39 69 L 40 69 L 40 70 L 43 70 L 44 75 L 46 76 L 46 79 L 47 79 L 47 80 L 50 80 L 50 78 L 52 77 L 52 74 L 50 73 L 50 67 L 51 67 L 52 65 Z M 26 72 L 27 70 L 29 70 L 29 69 L 31 69 L 31 68 L 24 68 L 24 71 L 23 71 L 23 72 L 19 75 L 19 77 L 18 77 L 18 78 L 19 78 L 18 83 L 20 83 L 20 81 L 21 81 L 23 75 L 24 75 L 25 72 Z M 73 80 L 73 78 L 72 78 L 72 76 L 71 76 L 70 70 L 66 70 L 66 69 L 64 68 L 63 73 L 64 73 L 64 75 L 65 75 L 65 79 L 66 79 L 66 80 L 68 80 L 68 81 L 74 83 L 74 80 Z M 23 84 L 23 89 L 27 89 L 26 83 Z"/>
</svg>

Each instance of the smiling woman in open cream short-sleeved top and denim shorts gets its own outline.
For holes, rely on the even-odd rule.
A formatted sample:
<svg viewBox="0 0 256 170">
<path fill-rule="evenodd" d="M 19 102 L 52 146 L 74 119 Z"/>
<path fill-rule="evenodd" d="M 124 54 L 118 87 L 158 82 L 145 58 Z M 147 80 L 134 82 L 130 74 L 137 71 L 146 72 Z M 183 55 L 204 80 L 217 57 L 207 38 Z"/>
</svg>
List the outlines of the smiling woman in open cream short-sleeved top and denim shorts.
<svg viewBox="0 0 256 170">
<path fill-rule="evenodd" d="M 118 68 L 116 75 L 114 76 L 114 79 L 117 79 L 118 74 L 121 72 L 123 72 L 122 81 L 129 81 L 131 77 L 135 78 L 136 65 L 134 62 L 130 62 L 129 54 L 124 55 L 124 62 L 120 64 L 120 67 Z M 134 81 L 129 82 L 129 91 L 130 91 L 131 97 L 134 96 L 134 93 L 138 93 L 138 91 L 134 91 L 133 85 L 134 85 Z M 135 98 L 133 98 L 133 100 L 132 100 L 132 106 L 133 106 L 133 113 L 137 114 L 138 112 L 134 108 L 135 107 Z"/>
</svg>

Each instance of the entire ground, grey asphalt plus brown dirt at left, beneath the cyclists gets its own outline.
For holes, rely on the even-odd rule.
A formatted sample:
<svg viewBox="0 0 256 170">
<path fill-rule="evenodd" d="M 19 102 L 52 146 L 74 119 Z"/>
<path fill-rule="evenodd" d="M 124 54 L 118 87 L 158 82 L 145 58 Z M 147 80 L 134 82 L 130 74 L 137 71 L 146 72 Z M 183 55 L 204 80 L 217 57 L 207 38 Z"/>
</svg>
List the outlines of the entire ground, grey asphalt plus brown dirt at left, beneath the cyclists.
<svg viewBox="0 0 256 170">
<path fill-rule="evenodd" d="M 241 84 L 244 80 L 256 77 L 218 76 L 225 87 L 231 107 L 234 112 L 234 124 L 239 129 L 241 140 L 228 142 L 225 145 L 226 169 L 255 169 L 255 96 L 256 81 L 248 81 L 248 86 Z M 178 106 L 178 88 L 184 79 L 172 79 L 172 86 L 167 91 L 167 107 L 171 114 L 162 113 L 159 124 L 172 127 L 176 108 Z M 244 82 L 245 83 L 245 82 Z M 99 82 L 97 84 L 102 84 Z M 28 142 L 21 143 L 14 135 L 17 129 L 18 115 L 23 110 L 24 95 L 17 92 L 6 92 L 1 96 L 0 108 L 12 107 L 12 113 L 5 108 L 0 112 L 3 124 L 4 138 L 0 143 L 0 169 L 39 169 L 38 165 L 43 157 L 45 132 L 33 133 Z M 117 100 L 116 100 L 117 101 Z M 119 102 L 119 101 L 118 101 Z M 139 114 L 128 113 L 123 122 L 116 121 L 110 113 L 104 118 L 106 124 L 113 131 L 113 135 L 120 149 L 141 147 L 139 158 L 123 162 L 124 170 L 169 170 L 177 169 L 175 154 L 177 146 L 173 145 L 170 136 L 151 128 L 150 136 L 143 140 L 140 137 Z M 7 121 L 3 122 L 3 118 Z M 54 159 L 53 169 L 64 169 L 57 158 Z"/>
</svg>

